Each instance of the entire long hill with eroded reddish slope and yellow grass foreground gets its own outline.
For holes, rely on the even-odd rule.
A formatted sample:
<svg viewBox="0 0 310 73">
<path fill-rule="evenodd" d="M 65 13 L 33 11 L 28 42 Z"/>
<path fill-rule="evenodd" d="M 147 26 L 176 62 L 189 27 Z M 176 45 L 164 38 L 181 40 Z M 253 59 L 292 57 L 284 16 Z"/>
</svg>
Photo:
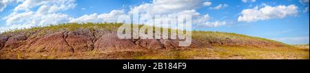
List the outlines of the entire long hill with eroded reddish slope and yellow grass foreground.
<svg viewBox="0 0 310 73">
<path fill-rule="evenodd" d="M 237 33 L 192 31 L 194 46 L 185 48 L 174 46 L 175 40 L 116 40 L 121 25 L 65 23 L 9 30 L 0 35 L 0 59 L 309 59 L 309 47 Z"/>
</svg>

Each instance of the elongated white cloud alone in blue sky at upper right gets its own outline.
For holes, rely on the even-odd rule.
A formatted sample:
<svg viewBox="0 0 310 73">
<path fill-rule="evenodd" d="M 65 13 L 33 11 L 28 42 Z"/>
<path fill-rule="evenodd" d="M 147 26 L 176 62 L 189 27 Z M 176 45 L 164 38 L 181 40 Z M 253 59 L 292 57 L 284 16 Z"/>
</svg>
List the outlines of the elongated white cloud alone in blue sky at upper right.
<svg viewBox="0 0 310 73">
<path fill-rule="evenodd" d="M 254 8 L 242 10 L 238 22 L 256 22 L 257 20 L 268 20 L 273 18 L 285 18 L 286 16 L 296 16 L 298 7 L 296 5 L 278 5 L 271 7 L 269 5 L 264 8 Z"/>
</svg>

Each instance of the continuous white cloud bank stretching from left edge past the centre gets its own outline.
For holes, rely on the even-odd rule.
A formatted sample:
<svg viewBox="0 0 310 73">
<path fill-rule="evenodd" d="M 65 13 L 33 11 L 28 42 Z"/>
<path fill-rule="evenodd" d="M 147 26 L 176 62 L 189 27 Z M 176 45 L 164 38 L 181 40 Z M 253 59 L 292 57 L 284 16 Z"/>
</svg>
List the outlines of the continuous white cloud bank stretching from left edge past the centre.
<svg viewBox="0 0 310 73">
<path fill-rule="evenodd" d="M 209 14 L 196 12 L 198 8 L 211 5 L 210 1 L 205 0 L 153 0 L 151 3 L 131 6 L 128 12 L 125 12 L 125 10 L 112 10 L 110 13 L 85 14 L 77 18 L 72 18 L 68 14 L 61 12 L 73 9 L 76 6 L 74 0 L 19 0 L 18 2 L 21 3 L 13 8 L 14 10 L 11 14 L 1 18 L 1 20 L 6 20 L 6 25 L 0 27 L 1 31 L 3 29 L 21 29 L 58 23 L 114 23 L 118 16 L 132 15 L 134 10 L 139 10 L 141 17 L 147 15 L 190 15 L 194 25 L 218 27 L 225 24 L 221 21 L 210 22 L 209 18 L 211 17 Z M 225 8 L 227 6 L 222 4 L 218 8 Z"/>
</svg>

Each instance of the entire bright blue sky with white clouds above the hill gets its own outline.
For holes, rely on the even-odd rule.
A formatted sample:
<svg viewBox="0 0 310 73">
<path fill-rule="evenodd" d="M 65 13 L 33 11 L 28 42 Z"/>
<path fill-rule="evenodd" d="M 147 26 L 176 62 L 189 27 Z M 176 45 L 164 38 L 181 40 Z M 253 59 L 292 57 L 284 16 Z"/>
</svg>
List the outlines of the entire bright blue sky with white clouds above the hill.
<svg viewBox="0 0 310 73">
<path fill-rule="evenodd" d="M 0 0 L 0 31 L 56 23 L 114 22 L 117 16 L 189 14 L 195 30 L 309 44 L 309 0 Z M 161 12 L 159 12 L 161 11 Z"/>
</svg>

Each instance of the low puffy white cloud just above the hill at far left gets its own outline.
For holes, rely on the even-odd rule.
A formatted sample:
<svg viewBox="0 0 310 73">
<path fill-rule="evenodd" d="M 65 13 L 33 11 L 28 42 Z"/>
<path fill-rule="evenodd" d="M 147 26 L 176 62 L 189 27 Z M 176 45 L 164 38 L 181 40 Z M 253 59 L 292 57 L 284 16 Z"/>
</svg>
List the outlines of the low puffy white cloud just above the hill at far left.
<svg viewBox="0 0 310 73">
<path fill-rule="evenodd" d="M 50 25 L 56 23 L 65 23 L 70 19 L 67 14 L 53 13 L 53 14 L 40 14 L 37 12 L 14 12 L 5 17 L 6 25 Z M 21 28 L 19 28 L 21 29 Z"/>
</svg>

